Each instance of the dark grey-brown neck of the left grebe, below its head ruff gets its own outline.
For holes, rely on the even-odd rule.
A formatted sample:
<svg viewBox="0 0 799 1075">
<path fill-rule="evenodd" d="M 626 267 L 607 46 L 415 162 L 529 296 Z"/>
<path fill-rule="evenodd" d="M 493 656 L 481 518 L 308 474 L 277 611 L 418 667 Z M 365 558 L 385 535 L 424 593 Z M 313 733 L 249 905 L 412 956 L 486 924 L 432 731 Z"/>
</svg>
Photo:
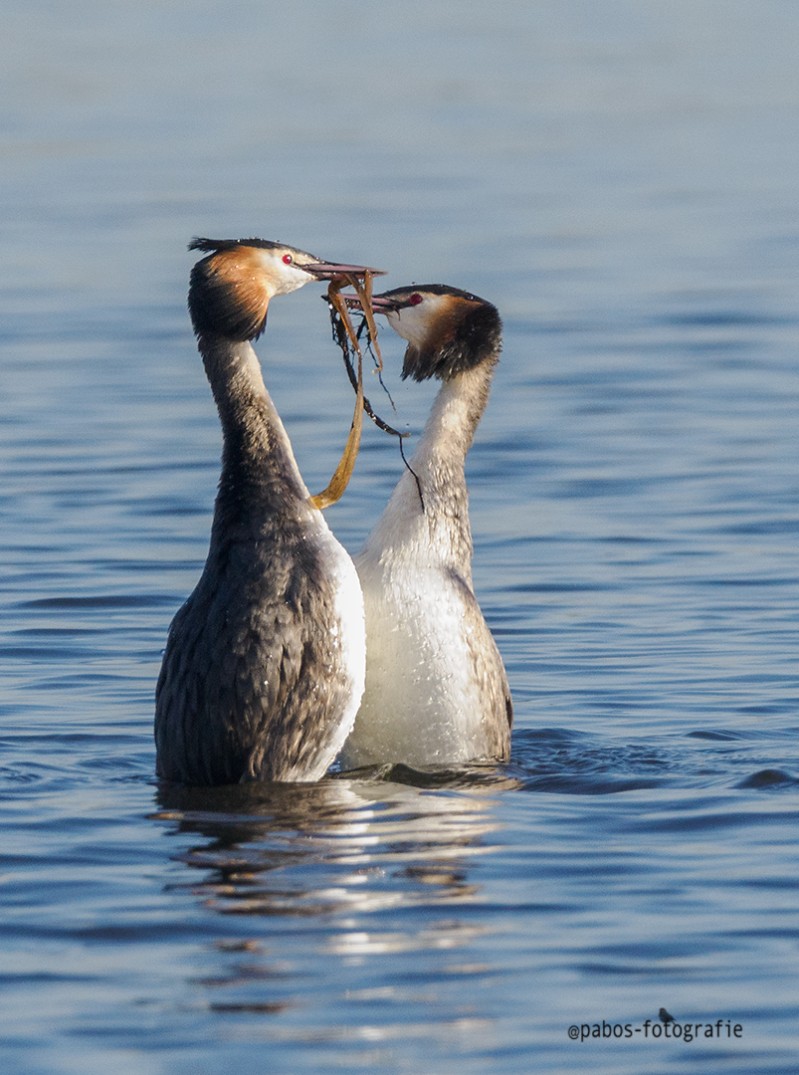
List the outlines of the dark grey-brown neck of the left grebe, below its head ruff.
<svg viewBox="0 0 799 1075">
<path fill-rule="evenodd" d="M 215 528 L 304 503 L 308 489 L 249 343 L 201 336 L 200 353 L 223 431 Z"/>
</svg>

